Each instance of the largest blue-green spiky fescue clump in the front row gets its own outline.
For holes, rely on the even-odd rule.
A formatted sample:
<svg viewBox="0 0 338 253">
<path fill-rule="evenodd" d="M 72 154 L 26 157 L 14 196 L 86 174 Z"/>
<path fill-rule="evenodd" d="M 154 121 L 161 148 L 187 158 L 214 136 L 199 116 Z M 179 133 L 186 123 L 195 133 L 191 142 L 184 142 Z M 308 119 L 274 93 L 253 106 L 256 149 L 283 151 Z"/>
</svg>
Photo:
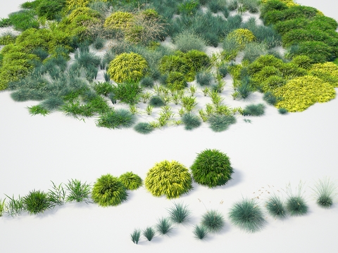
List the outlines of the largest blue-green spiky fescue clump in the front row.
<svg viewBox="0 0 338 253">
<path fill-rule="evenodd" d="M 264 214 L 255 200 L 243 199 L 235 202 L 229 212 L 229 219 L 240 229 L 254 233 L 260 231 L 264 224 Z"/>
</svg>

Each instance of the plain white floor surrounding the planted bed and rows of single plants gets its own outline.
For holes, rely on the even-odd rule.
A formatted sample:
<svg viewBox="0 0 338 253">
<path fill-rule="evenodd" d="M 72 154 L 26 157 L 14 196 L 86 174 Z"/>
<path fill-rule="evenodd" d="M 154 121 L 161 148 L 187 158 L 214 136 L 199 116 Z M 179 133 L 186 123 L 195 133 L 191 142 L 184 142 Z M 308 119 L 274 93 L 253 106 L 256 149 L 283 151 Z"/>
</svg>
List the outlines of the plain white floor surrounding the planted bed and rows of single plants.
<svg viewBox="0 0 338 253">
<path fill-rule="evenodd" d="M 6 1 L 0 17 L 15 11 L 23 0 Z M 331 2 L 331 3 L 330 3 Z M 338 19 L 337 4 L 330 0 L 298 1 Z M 334 7 L 334 8 L 333 8 Z M 336 89 L 338 91 L 338 89 Z M 225 101 L 226 103 L 226 101 Z M 265 116 L 242 119 L 222 133 L 204 125 L 194 131 L 182 126 L 156 130 L 144 136 L 129 129 L 109 130 L 94 120 L 80 122 L 54 112 L 31 117 L 30 102 L 16 103 L 8 91 L 0 92 L 0 198 L 48 190 L 50 181 L 79 179 L 94 183 L 103 174 L 126 171 L 142 179 L 156 162 L 177 160 L 190 167 L 206 148 L 227 153 L 234 168 L 226 186 L 194 190 L 177 200 L 153 197 L 145 188 L 131 192 L 118 207 L 68 203 L 44 214 L 0 218 L 1 252 L 337 252 L 338 200 L 331 209 L 320 209 L 311 197 L 315 180 L 338 179 L 338 99 L 315 104 L 305 112 L 279 115 L 267 107 Z M 270 193 L 284 193 L 287 183 L 306 186 L 309 212 L 305 216 L 274 220 L 258 233 L 232 226 L 227 212 L 242 197 L 259 197 L 261 206 Z M 263 193 L 262 193 L 263 192 Z M 285 196 L 285 194 L 284 194 Z M 134 228 L 155 225 L 167 216 L 173 202 L 189 205 L 192 219 L 169 236 L 156 236 L 139 245 L 130 240 Z M 205 241 L 194 239 L 192 228 L 208 209 L 225 215 L 225 228 Z"/>
</svg>

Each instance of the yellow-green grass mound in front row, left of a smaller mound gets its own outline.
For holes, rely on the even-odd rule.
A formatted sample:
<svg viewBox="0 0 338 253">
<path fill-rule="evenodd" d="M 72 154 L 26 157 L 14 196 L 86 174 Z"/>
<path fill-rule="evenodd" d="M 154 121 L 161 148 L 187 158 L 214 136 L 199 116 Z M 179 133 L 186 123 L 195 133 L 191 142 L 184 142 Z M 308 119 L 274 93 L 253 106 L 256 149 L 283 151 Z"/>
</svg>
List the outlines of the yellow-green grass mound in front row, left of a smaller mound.
<svg viewBox="0 0 338 253">
<path fill-rule="evenodd" d="M 127 189 L 115 176 L 106 174 L 97 179 L 92 190 L 92 199 L 101 207 L 120 205 L 127 200 Z"/>
</svg>

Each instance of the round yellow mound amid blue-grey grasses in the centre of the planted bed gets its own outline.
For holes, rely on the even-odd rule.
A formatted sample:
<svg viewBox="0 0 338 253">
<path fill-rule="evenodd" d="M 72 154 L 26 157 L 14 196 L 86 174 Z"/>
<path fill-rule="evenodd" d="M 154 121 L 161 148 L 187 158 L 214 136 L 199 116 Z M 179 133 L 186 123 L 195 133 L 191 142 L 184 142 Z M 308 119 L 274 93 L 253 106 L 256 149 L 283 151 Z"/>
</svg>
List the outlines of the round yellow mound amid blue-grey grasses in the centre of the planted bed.
<svg viewBox="0 0 338 253">
<path fill-rule="evenodd" d="M 109 63 L 107 72 L 115 82 L 139 81 L 147 68 L 148 63 L 138 53 L 121 53 Z"/>
</svg>

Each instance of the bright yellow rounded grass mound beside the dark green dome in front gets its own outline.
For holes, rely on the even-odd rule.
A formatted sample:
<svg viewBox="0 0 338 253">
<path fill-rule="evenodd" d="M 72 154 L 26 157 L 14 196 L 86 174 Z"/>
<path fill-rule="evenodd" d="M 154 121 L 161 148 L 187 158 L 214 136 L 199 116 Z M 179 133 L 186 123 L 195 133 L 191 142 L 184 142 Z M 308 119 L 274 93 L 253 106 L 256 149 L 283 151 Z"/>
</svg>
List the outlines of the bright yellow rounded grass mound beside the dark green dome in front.
<svg viewBox="0 0 338 253">
<path fill-rule="evenodd" d="M 192 176 L 179 162 L 164 160 L 149 169 L 144 184 L 152 195 L 171 199 L 192 190 Z"/>
</svg>

